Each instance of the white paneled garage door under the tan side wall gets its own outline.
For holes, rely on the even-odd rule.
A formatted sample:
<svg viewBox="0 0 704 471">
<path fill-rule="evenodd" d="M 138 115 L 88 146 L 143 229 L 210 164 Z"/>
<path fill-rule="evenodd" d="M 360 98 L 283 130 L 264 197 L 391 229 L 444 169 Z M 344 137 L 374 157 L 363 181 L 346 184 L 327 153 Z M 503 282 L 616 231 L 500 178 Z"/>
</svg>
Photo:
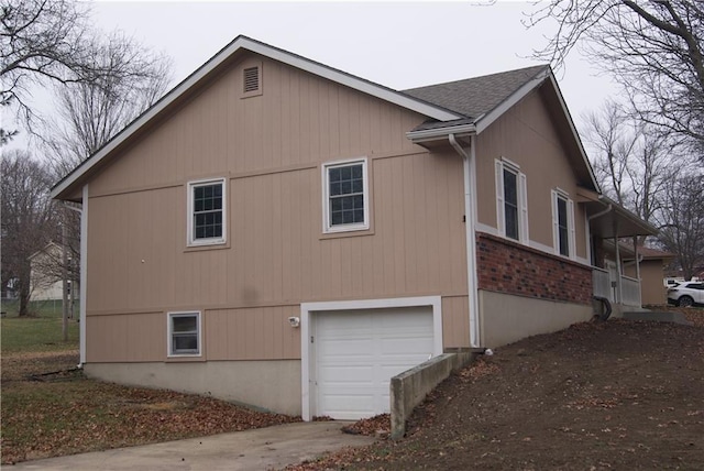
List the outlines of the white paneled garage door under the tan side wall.
<svg viewBox="0 0 704 471">
<path fill-rule="evenodd" d="M 432 308 L 323 311 L 315 316 L 318 416 L 389 412 L 389 382 L 432 354 Z"/>
</svg>

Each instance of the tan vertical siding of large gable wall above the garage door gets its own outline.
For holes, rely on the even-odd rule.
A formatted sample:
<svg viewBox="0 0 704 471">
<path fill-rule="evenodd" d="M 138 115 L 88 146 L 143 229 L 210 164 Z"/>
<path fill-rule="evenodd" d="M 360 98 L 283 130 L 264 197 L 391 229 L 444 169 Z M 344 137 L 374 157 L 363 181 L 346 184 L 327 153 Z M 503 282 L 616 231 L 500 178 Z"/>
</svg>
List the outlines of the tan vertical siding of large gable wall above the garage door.
<svg viewBox="0 0 704 471">
<path fill-rule="evenodd" d="M 422 117 L 267 59 L 263 95 L 240 98 L 246 65 L 90 183 L 94 329 L 110 318 L 125 332 L 128 314 L 158 310 L 165 342 L 165 313 L 197 309 L 208 359 L 297 359 L 300 333 L 285 319 L 300 303 L 466 297 L 462 160 L 406 139 Z M 321 164 L 355 157 L 367 158 L 371 229 L 323 234 Z M 211 177 L 227 180 L 227 244 L 190 249 L 187 183 Z M 466 346 L 466 302 L 449 303 L 446 339 Z M 156 361 L 166 349 L 131 348 Z M 88 351 L 118 361 L 105 358 Z"/>
</svg>

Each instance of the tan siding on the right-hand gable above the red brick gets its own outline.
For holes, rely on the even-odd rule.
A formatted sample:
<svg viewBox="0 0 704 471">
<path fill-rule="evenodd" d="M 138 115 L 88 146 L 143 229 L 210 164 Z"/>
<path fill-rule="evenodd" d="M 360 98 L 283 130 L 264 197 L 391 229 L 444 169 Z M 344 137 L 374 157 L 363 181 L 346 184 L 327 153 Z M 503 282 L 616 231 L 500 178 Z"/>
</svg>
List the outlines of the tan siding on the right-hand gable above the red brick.
<svg viewBox="0 0 704 471">
<path fill-rule="evenodd" d="M 576 204 L 576 177 L 540 95 L 535 91 L 477 136 L 477 218 L 496 228 L 494 160 L 515 162 L 526 174 L 530 240 L 552 247 L 550 190 L 563 189 L 575 201 L 576 255 L 586 258 L 584 212 Z"/>
</svg>

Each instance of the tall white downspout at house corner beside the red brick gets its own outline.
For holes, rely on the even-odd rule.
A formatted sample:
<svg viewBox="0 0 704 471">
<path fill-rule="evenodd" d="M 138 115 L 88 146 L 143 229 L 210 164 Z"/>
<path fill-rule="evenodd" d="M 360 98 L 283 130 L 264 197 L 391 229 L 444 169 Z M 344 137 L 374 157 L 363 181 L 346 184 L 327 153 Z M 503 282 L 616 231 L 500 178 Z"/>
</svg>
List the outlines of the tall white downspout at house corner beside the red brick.
<svg viewBox="0 0 704 471">
<path fill-rule="evenodd" d="M 475 160 L 475 136 L 472 135 L 470 144 L 470 153 L 466 152 L 458 142 L 454 134 L 448 134 L 448 140 L 458 154 L 462 156 L 462 167 L 464 174 L 464 220 L 466 234 L 466 278 L 468 278 L 468 306 L 470 310 L 470 346 L 480 348 L 480 319 L 479 319 L 479 300 L 477 281 L 476 281 L 476 236 L 474 228 L 476 227 L 476 210 L 474 208 L 476 198 L 472 198 L 472 190 L 476 188 L 474 185 L 474 160 Z"/>
</svg>

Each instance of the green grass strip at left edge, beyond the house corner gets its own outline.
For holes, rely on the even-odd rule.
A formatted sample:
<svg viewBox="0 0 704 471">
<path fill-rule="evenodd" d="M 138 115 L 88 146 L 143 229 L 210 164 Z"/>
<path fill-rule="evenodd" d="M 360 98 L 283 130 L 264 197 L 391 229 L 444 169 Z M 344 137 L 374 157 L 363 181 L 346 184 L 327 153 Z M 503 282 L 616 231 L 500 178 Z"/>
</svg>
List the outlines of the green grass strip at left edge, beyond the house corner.
<svg viewBox="0 0 704 471">
<path fill-rule="evenodd" d="M 63 340 L 62 317 L 3 317 L 2 354 L 14 352 L 62 351 L 78 348 L 79 329 L 76 319 L 68 320 L 68 341 Z"/>
</svg>

